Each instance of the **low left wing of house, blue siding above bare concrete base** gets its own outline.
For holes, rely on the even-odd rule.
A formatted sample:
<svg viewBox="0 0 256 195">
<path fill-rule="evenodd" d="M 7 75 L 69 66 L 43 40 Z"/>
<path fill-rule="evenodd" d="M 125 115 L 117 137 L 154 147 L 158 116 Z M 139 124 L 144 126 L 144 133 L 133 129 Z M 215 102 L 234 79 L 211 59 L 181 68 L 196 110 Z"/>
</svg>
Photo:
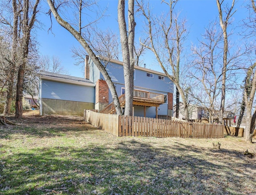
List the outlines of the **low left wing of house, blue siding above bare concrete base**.
<svg viewBox="0 0 256 195">
<path fill-rule="evenodd" d="M 40 72 L 40 115 L 80 115 L 94 109 L 95 84 L 88 79 Z"/>
</svg>

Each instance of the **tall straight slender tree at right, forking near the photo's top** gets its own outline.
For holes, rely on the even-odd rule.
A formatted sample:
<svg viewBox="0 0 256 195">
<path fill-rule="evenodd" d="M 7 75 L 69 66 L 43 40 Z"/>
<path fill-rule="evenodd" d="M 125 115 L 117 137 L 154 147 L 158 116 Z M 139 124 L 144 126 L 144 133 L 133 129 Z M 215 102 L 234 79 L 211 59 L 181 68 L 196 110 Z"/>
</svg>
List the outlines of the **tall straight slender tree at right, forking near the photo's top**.
<svg viewBox="0 0 256 195">
<path fill-rule="evenodd" d="M 220 18 L 220 27 L 222 28 L 223 32 L 223 39 L 224 39 L 224 48 L 223 48 L 223 67 L 222 67 L 222 95 L 221 95 L 221 104 L 220 104 L 220 118 L 219 121 L 222 123 L 223 114 L 225 109 L 225 97 L 226 97 L 226 71 L 228 65 L 228 33 L 227 28 L 228 24 L 230 24 L 230 18 L 234 14 L 232 12 L 235 4 L 235 0 L 232 0 L 232 5 L 230 8 L 223 9 L 223 2 L 224 0 L 216 0 L 217 7 L 219 11 L 219 18 Z M 223 16 L 223 10 L 225 12 L 225 16 Z"/>
</svg>

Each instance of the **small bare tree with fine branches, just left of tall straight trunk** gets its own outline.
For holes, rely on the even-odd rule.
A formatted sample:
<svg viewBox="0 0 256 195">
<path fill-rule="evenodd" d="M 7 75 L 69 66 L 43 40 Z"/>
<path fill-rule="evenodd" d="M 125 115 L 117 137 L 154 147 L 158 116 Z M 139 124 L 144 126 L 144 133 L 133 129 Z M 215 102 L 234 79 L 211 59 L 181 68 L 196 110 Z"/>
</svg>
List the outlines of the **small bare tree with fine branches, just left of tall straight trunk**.
<svg viewBox="0 0 256 195">
<path fill-rule="evenodd" d="M 197 89 L 202 91 L 199 94 L 192 92 L 192 95 L 207 109 L 209 122 L 213 123 L 216 101 L 221 91 L 222 72 L 218 66 L 221 55 L 218 46 L 222 41 L 222 32 L 216 29 L 216 22 L 210 23 L 205 30 L 202 41 L 199 41 L 199 46 L 192 47 L 195 58 L 190 77 L 196 79 Z"/>
</svg>

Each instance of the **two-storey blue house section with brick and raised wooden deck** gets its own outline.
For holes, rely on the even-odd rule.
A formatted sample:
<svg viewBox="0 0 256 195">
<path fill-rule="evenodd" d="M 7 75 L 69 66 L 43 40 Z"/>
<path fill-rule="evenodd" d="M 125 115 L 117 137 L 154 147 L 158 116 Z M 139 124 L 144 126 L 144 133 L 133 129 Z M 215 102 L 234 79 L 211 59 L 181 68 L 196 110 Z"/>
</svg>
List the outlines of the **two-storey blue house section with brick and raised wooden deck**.
<svg viewBox="0 0 256 195">
<path fill-rule="evenodd" d="M 107 59 L 102 59 L 105 64 Z M 106 65 L 106 70 L 116 86 L 118 97 L 121 98 L 120 104 L 125 109 L 124 98 L 124 68 L 123 62 L 110 60 Z M 110 90 L 99 69 L 92 60 L 86 58 L 85 67 L 86 79 L 96 84 L 95 88 L 95 109 L 103 113 L 114 113 L 113 109 L 106 109 L 106 106 L 113 102 Z M 158 115 L 172 116 L 173 110 L 173 83 L 164 73 L 146 69 L 144 67 L 134 67 L 134 99 L 133 115 L 156 118 Z M 104 110 L 105 108 L 105 110 Z"/>
</svg>

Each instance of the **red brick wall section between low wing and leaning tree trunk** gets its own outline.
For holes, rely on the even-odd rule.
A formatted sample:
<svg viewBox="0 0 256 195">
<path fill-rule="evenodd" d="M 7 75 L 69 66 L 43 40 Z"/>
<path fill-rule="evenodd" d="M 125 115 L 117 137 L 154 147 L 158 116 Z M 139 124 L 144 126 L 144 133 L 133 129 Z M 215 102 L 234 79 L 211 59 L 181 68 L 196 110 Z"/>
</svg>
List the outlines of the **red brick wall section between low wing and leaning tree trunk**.
<svg viewBox="0 0 256 195">
<path fill-rule="evenodd" d="M 97 104 L 98 102 L 101 103 L 108 103 L 108 85 L 106 81 L 104 80 L 98 80 L 96 82 L 96 101 L 95 103 Z"/>
</svg>

